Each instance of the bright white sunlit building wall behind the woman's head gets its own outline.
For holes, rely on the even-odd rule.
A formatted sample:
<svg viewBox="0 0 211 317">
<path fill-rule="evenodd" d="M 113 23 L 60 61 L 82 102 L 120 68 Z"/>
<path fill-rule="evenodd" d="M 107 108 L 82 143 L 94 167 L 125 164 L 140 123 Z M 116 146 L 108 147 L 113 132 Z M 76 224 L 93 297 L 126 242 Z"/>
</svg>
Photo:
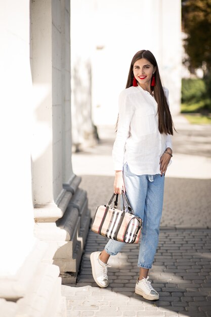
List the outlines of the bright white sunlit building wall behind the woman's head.
<svg viewBox="0 0 211 317">
<path fill-rule="evenodd" d="M 155 55 L 171 111 L 179 112 L 181 90 L 180 0 L 72 0 L 71 56 L 91 60 L 92 120 L 113 125 L 118 95 L 131 59 L 142 49 Z M 81 78 L 86 74 L 79 69 Z"/>
</svg>

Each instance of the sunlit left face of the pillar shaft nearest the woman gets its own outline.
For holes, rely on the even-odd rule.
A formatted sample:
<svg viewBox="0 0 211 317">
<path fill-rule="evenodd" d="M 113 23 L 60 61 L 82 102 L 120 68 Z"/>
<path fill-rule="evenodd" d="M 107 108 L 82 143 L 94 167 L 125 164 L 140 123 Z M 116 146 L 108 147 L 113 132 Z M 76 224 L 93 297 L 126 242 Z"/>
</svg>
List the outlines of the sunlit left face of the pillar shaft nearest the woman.
<svg viewBox="0 0 211 317">
<path fill-rule="evenodd" d="M 33 142 L 32 188 L 35 206 L 54 202 L 51 0 L 32 2 Z"/>
</svg>

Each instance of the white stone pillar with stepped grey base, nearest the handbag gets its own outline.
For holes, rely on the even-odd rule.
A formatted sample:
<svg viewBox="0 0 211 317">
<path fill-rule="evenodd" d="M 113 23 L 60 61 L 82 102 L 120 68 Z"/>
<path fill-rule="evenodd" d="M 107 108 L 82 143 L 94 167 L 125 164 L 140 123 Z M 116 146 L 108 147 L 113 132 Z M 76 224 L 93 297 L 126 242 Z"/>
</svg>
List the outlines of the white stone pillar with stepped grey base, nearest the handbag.
<svg viewBox="0 0 211 317">
<path fill-rule="evenodd" d="M 31 25 L 34 232 L 49 242 L 60 271 L 76 279 L 90 212 L 71 165 L 70 2 L 32 1 Z"/>
</svg>

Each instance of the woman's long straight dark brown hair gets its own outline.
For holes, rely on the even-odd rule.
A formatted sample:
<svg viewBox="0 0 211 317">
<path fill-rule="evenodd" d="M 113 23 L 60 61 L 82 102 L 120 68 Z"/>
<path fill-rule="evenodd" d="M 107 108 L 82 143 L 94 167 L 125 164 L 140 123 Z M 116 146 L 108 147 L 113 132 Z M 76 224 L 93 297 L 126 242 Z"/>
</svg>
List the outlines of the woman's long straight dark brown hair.
<svg viewBox="0 0 211 317">
<path fill-rule="evenodd" d="M 165 133 L 165 134 L 171 134 L 173 135 L 173 129 L 175 130 L 174 123 L 172 120 L 172 115 L 170 112 L 170 109 L 167 104 L 167 100 L 162 88 L 161 80 L 160 80 L 160 74 L 159 69 L 157 66 L 156 59 L 154 55 L 150 51 L 142 50 L 137 52 L 132 61 L 131 66 L 129 70 L 128 75 L 128 82 L 126 83 L 126 88 L 129 88 L 133 86 L 133 80 L 134 80 L 134 72 L 133 67 L 137 60 L 145 58 L 147 59 L 154 67 L 156 67 L 156 70 L 154 72 L 155 75 L 155 86 L 151 86 L 151 91 L 153 91 L 154 98 L 157 102 L 157 112 L 158 112 L 158 129 L 159 132 Z M 118 123 L 118 120 L 117 120 Z M 116 124 L 117 127 L 117 124 Z M 176 131 L 176 130 L 175 130 Z"/>
</svg>

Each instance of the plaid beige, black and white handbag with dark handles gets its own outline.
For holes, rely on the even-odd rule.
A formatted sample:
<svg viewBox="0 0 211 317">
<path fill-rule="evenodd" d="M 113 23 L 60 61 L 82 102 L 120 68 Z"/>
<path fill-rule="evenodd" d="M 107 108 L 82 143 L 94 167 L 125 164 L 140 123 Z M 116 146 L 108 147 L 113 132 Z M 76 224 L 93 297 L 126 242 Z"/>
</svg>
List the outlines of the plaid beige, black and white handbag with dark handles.
<svg viewBox="0 0 211 317">
<path fill-rule="evenodd" d="M 111 208 L 114 196 L 116 199 L 114 207 Z M 118 194 L 113 194 L 107 205 L 97 207 L 91 230 L 119 242 L 138 243 L 142 219 L 134 215 L 128 197 L 123 191 L 121 196 L 122 210 L 117 209 Z"/>
</svg>

